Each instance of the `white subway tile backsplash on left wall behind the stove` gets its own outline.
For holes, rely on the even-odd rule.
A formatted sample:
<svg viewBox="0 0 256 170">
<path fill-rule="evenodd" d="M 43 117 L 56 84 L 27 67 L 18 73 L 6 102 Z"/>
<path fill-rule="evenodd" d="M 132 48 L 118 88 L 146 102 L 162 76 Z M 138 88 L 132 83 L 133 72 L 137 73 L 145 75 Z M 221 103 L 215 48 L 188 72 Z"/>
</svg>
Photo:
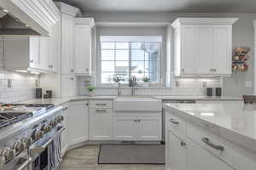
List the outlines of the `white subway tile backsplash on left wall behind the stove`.
<svg viewBox="0 0 256 170">
<path fill-rule="evenodd" d="M 12 87 L 8 88 L 8 79 Z M 34 99 L 37 77 L 9 71 L 0 71 L 0 102 L 13 103 Z"/>
</svg>

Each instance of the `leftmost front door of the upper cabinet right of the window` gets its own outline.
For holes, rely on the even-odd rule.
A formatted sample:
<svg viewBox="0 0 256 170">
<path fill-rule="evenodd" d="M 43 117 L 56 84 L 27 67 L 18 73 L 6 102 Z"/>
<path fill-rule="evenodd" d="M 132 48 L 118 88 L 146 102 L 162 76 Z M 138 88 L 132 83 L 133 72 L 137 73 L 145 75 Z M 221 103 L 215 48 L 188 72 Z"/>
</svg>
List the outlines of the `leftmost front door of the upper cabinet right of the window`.
<svg viewBox="0 0 256 170">
<path fill-rule="evenodd" d="M 196 62 L 196 26 L 182 26 L 181 32 L 181 74 L 195 75 Z"/>
</svg>

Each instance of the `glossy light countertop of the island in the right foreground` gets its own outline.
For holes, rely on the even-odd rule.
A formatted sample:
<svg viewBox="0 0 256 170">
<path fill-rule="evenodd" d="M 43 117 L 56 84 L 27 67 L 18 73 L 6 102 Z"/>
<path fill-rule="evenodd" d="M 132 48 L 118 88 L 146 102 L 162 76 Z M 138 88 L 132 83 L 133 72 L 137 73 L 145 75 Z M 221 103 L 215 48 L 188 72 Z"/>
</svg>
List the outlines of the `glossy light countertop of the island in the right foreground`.
<svg viewBox="0 0 256 170">
<path fill-rule="evenodd" d="M 208 102 L 197 104 L 164 104 L 164 108 L 189 122 L 249 150 L 256 151 L 256 105 L 241 101 Z M 214 129 L 214 130 L 212 130 Z"/>
</svg>

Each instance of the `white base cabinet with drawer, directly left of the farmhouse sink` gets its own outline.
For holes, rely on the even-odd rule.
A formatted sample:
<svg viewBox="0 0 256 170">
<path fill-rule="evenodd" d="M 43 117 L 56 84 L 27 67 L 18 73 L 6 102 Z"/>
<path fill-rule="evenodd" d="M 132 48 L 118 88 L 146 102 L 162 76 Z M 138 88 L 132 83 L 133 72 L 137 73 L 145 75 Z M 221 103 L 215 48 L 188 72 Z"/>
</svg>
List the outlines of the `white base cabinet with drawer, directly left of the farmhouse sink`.
<svg viewBox="0 0 256 170">
<path fill-rule="evenodd" d="M 112 139 L 112 101 L 90 100 L 90 140 Z"/>
</svg>

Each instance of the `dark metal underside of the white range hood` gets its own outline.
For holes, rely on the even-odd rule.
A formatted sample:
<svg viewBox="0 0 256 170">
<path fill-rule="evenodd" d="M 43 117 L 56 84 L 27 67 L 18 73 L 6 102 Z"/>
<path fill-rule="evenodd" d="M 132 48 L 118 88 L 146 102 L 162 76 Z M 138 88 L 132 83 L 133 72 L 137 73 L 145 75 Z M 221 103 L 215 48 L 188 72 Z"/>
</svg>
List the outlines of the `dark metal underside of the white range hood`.
<svg viewBox="0 0 256 170">
<path fill-rule="evenodd" d="M 0 35 L 40 35 L 6 9 L 0 8 Z"/>
</svg>

